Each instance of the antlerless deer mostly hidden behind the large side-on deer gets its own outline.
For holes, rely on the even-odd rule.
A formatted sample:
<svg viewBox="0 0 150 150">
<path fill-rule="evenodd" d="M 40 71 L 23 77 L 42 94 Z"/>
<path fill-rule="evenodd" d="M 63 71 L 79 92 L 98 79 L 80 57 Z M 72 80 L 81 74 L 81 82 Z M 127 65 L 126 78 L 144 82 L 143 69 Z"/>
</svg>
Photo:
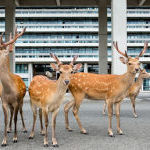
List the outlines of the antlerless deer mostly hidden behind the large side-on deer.
<svg viewBox="0 0 150 150">
<path fill-rule="evenodd" d="M 145 69 L 140 69 L 140 73 L 139 73 L 137 80 L 133 83 L 133 85 L 129 88 L 127 92 L 126 97 L 129 97 L 131 100 L 133 116 L 135 118 L 138 117 L 136 110 L 135 110 L 135 100 L 136 100 L 136 97 L 139 95 L 140 89 L 143 84 L 143 79 L 146 79 L 146 78 L 150 78 L 150 74 L 147 73 Z M 106 114 L 106 103 L 104 103 L 104 106 L 103 106 L 103 114 L 104 115 Z"/>
</svg>

